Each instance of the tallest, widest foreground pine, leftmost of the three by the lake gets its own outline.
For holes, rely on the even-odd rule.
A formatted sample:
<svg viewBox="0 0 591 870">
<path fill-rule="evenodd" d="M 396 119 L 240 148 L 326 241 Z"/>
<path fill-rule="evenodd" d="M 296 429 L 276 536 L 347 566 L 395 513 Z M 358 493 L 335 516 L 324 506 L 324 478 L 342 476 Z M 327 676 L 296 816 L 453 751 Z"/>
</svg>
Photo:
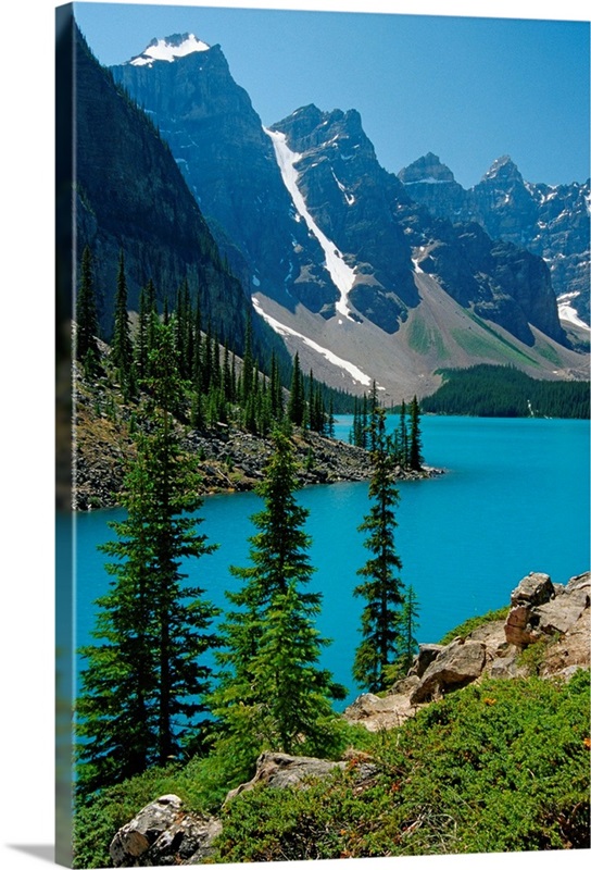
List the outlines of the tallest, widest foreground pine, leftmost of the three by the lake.
<svg viewBox="0 0 591 870">
<path fill-rule="evenodd" d="M 172 324 L 152 356 L 152 432 L 139 439 L 126 478 L 118 540 L 103 547 L 117 561 L 108 568 L 112 589 L 98 602 L 100 643 L 83 650 L 83 793 L 178 756 L 211 689 L 202 658 L 217 643 L 211 622 L 218 611 L 203 589 L 185 585 L 181 563 L 214 547 L 197 531 L 197 464 L 181 455 L 171 414 L 179 389 Z"/>
</svg>

